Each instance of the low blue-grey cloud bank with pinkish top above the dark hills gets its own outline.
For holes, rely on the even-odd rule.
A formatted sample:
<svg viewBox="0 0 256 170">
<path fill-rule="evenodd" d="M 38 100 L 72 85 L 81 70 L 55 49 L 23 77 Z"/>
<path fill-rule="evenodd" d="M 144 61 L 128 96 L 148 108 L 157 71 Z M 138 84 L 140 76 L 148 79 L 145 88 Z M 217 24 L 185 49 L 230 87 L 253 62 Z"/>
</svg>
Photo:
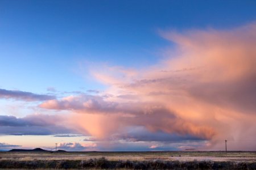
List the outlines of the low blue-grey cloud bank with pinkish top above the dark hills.
<svg viewBox="0 0 256 170">
<path fill-rule="evenodd" d="M 65 123 L 65 126 L 63 125 Z M 50 135 L 75 133 L 62 116 L 31 114 L 23 118 L 0 116 L 0 134 Z"/>
</svg>

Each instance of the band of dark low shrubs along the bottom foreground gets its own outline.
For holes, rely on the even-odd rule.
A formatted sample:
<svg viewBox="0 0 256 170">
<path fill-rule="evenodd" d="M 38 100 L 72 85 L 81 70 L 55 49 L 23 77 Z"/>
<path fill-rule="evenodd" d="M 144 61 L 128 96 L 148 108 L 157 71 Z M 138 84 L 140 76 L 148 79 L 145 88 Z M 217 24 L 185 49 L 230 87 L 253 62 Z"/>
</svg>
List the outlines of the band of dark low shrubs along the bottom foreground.
<svg viewBox="0 0 256 170">
<path fill-rule="evenodd" d="M 212 160 L 179 162 L 164 160 L 0 160 L 7 169 L 256 169 L 255 162 L 213 162 Z"/>
</svg>

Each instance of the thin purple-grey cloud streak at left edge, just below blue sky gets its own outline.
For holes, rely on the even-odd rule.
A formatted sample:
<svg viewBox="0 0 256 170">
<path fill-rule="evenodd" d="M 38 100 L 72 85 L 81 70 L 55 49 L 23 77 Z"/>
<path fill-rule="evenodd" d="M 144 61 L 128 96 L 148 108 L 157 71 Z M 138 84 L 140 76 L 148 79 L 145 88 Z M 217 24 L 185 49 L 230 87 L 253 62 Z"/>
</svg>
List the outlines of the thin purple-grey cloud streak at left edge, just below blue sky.
<svg viewBox="0 0 256 170">
<path fill-rule="evenodd" d="M 0 89 L 0 98 L 2 99 L 15 99 L 24 101 L 43 101 L 55 99 L 55 96 L 50 95 L 38 95 L 31 92 L 24 92 L 18 90 L 5 90 Z"/>
</svg>

